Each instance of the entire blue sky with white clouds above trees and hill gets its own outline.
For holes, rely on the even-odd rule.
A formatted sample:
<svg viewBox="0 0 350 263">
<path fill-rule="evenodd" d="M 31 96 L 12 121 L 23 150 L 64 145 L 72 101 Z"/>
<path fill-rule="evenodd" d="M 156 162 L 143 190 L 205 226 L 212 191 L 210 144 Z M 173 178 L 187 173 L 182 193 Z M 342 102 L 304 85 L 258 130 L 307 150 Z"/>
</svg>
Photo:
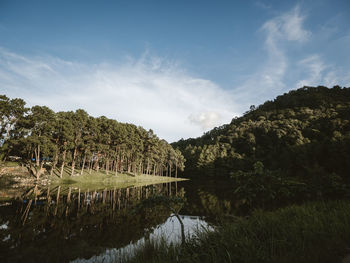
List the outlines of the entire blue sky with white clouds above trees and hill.
<svg viewBox="0 0 350 263">
<path fill-rule="evenodd" d="M 0 0 L 0 94 L 198 137 L 303 86 L 350 86 L 350 1 Z"/>
</svg>

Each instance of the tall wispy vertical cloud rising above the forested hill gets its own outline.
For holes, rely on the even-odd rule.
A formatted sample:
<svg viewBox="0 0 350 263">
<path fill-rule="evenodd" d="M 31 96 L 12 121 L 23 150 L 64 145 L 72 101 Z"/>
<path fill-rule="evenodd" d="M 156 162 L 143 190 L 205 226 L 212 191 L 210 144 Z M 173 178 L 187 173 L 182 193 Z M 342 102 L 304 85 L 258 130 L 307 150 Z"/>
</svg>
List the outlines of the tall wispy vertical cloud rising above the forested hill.
<svg viewBox="0 0 350 263">
<path fill-rule="evenodd" d="M 286 45 L 289 42 L 302 44 L 309 40 L 311 32 L 303 27 L 305 16 L 301 15 L 299 7 L 280 14 L 266 21 L 260 28 L 264 34 L 264 49 L 266 60 L 260 69 L 254 72 L 248 80 L 235 90 L 237 103 L 262 103 L 278 95 L 287 87 L 284 78 L 289 67 Z M 241 109 L 241 111 L 246 110 Z"/>
</svg>

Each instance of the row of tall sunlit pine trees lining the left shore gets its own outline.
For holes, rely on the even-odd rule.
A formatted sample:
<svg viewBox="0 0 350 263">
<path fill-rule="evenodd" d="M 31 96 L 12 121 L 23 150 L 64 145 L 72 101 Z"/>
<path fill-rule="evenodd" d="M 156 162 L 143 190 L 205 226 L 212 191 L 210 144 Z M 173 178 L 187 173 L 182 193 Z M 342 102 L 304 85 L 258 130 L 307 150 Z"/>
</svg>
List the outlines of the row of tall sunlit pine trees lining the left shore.
<svg viewBox="0 0 350 263">
<path fill-rule="evenodd" d="M 66 166 L 72 176 L 84 169 L 103 169 L 116 175 L 177 177 L 178 170 L 184 169 L 181 152 L 152 130 L 104 116 L 94 118 L 82 109 L 55 113 L 46 106 L 29 109 L 25 104 L 22 99 L 0 96 L 1 160 L 20 158 L 37 177 L 45 166 L 60 177 Z"/>
</svg>

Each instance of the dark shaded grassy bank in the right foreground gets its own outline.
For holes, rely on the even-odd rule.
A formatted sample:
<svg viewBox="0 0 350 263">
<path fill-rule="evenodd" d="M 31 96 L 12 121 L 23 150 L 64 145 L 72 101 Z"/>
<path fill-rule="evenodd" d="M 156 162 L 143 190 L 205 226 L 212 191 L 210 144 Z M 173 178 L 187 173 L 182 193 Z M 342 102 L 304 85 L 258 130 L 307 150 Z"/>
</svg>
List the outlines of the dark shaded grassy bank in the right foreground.
<svg viewBox="0 0 350 263">
<path fill-rule="evenodd" d="M 257 211 L 213 232 L 202 231 L 183 246 L 150 241 L 128 262 L 333 263 L 347 254 L 350 203 L 332 201 Z"/>
</svg>

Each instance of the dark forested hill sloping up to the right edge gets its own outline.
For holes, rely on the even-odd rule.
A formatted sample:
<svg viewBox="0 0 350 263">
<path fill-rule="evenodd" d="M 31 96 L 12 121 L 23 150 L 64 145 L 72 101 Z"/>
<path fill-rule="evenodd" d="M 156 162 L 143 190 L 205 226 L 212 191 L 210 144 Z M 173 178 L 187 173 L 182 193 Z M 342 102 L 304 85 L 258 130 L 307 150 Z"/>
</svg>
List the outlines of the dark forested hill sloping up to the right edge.
<svg viewBox="0 0 350 263">
<path fill-rule="evenodd" d="M 185 156 L 189 177 L 225 177 L 259 163 L 286 176 L 349 182 L 349 121 L 350 88 L 303 87 L 172 145 Z"/>
</svg>

